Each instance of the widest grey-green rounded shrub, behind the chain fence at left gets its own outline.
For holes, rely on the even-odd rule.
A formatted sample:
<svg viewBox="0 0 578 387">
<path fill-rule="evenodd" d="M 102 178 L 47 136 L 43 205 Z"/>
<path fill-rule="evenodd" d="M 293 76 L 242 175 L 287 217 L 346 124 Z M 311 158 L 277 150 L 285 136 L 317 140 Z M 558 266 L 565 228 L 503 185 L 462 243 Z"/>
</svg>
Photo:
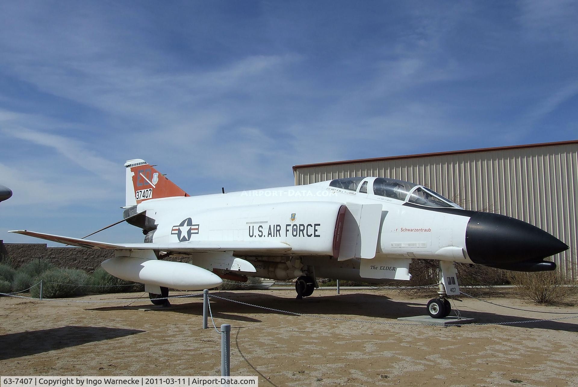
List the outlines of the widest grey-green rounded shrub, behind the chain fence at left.
<svg viewBox="0 0 578 387">
<path fill-rule="evenodd" d="M 34 281 L 42 280 L 42 297 L 58 298 L 79 296 L 88 292 L 88 274 L 77 269 L 50 269 L 34 278 Z M 40 296 L 40 286 L 30 289 L 32 297 Z"/>
</svg>

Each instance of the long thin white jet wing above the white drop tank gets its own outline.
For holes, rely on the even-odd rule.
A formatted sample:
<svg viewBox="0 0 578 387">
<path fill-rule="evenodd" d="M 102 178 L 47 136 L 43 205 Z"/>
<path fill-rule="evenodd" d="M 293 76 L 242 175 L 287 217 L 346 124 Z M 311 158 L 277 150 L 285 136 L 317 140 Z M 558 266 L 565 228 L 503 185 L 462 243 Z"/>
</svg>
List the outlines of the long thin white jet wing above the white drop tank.
<svg viewBox="0 0 578 387">
<path fill-rule="evenodd" d="M 176 243 L 107 243 L 94 240 L 72 238 L 60 235 L 44 234 L 28 230 L 9 231 L 17 234 L 33 236 L 53 242 L 69 244 L 87 248 L 108 248 L 114 250 L 161 250 L 171 252 L 207 252 L 207 251 L 236 251 L 267 252 L 290 251 L 291 246 L 279 241 L 188 241 Z"/>
</svg>

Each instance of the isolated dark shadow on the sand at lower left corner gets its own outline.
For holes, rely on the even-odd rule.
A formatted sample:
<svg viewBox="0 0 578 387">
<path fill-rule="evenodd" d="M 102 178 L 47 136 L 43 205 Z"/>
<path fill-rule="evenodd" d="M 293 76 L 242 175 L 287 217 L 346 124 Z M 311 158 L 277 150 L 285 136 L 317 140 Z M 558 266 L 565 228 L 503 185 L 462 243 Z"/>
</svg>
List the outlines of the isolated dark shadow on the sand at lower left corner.
<svg viewBox="0 0 578 387">
<path fill-rule="evenodd" d="M 2 334 L 0 335 L 0 348 L 2 348 L 0 360 L 20 358 L 142 332 L 144 330 L 104 326 L 62 326 L 61 328 Z"/>
</svg>

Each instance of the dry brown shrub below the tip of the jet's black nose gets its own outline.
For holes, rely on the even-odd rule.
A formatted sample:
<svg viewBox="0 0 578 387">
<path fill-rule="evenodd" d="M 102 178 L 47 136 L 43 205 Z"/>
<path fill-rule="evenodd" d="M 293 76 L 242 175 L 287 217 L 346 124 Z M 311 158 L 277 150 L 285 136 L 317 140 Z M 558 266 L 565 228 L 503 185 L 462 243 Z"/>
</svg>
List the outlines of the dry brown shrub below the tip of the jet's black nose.
<svg viewBox="0 0 578 387">
<path fill-rule="evenodd" d="M 568 302 L 573 292 L 572 286 L 568 286 L 569 282 L 558 271 L 510 271 L 509 278 L 521 297 L 539 304 Z"/>
</svg>

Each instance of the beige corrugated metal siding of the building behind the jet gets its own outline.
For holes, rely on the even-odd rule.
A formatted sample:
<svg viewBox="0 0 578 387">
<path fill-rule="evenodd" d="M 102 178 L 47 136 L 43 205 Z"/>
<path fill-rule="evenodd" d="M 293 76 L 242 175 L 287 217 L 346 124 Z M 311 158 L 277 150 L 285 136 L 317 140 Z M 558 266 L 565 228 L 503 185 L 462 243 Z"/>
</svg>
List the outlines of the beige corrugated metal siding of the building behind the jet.
<svg viewBox="0 0 578 387">
<path fill-rule="evenodd" d="M 578 279 L 578 145 L 546 146 L 295 170 L 295 184 L 380 176 L 423 184 L 468 210 L 518 218 L 570 246 L 554 256 Z"/>
</svg>

